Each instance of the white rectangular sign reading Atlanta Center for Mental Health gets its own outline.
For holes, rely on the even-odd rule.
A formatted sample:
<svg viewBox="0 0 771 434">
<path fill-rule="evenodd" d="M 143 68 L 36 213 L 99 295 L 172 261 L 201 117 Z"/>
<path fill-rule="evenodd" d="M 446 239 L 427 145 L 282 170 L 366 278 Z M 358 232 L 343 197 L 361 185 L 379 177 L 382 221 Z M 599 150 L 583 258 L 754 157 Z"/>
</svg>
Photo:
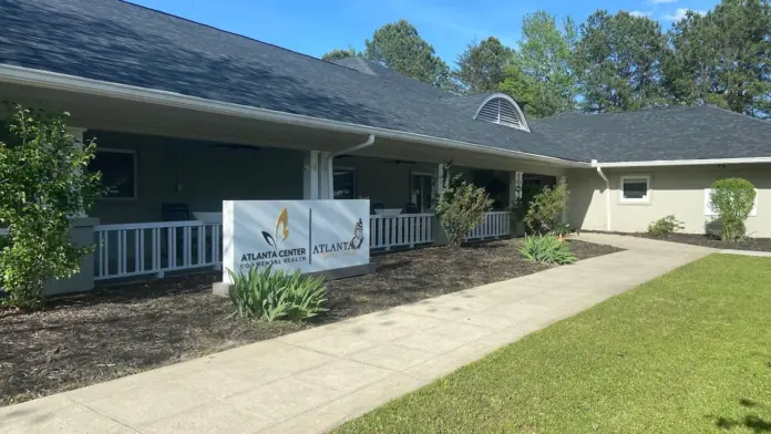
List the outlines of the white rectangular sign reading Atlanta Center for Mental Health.
<svg viewBox="0 0 771 434">
<path fill-rule="evenodd" d="M 369 200 L 225 200 L 223 268 L 317 272 L 369 264 Z"/>
</svg>

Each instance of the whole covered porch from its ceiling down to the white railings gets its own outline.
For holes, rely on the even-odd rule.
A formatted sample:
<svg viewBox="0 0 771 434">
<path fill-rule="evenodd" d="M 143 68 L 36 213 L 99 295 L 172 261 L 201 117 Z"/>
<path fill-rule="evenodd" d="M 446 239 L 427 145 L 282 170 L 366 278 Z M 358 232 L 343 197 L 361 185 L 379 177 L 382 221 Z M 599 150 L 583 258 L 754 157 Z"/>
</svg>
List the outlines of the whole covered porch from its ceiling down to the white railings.
<svg viewBox="0 0 771 434">
<path fill-rule="evenodd" d="M 368 198 L 374 251 L 441 244 L 432 203 L 449 161 L 495 199 L 469 239 L 505 237 L 514 229 L 507 210 L 518 187 L 528 179 L 556 183 L 567 167 L 378 128 L 362 134 L 24 85 L 3 92 L 22 104 L 69 111 L 76 136 L 97 142 L 93 167 L 110 192 L 89 215 L 99 220 L 94 280 L 220 267 L 228 199 Z"/>
</svg>

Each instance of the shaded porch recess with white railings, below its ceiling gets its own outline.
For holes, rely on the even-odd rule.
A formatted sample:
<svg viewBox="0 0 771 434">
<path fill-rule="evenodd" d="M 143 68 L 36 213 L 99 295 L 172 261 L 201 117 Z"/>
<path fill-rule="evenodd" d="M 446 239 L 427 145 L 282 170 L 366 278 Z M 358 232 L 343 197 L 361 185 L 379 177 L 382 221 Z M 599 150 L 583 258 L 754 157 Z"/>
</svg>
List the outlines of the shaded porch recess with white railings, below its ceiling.
<svg viewBox="0 0 771 434">
<path fill-rule="evenodd" d="M 370 200 L 372 252 L 444 242 L 432 209 L 442 176 L 439 157 L 430 163 L 340 154 L 325 174 L 318 152 L 111 131 L 84 132 L 83 140 L 90 138 L 100 145 L 93 167 L 109 188 L 90 213 L 101 223 L 93 237 L 97 281 L 218 269 L 223 200 L 318 198 L 330 174 L 332 198 Z M 494 199 L 494 211 L 469 232 L 469 240 L 516 230 L 508 206 L 522 190 L 517 183 L 556 182 L 548 175 L 453 168 Z"/>
</svg>

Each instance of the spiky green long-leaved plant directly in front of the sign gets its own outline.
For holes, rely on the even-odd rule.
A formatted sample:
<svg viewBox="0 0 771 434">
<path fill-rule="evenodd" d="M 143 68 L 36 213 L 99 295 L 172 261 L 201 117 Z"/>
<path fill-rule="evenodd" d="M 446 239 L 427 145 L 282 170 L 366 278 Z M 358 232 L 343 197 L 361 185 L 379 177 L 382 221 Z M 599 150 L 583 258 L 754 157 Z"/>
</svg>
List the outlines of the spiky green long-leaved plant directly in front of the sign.
<svg viewBox="0 0 771 434">
<path fill-rule="evenodd" d="M 300 271 L 273 271 L 270 267 L 248 272 L 228 270 L 233 286 L 230 300 L 241 318 L 300 321 L 326 312 L 327 287 L 323 277 L 301 277 Z"/>
</svg>

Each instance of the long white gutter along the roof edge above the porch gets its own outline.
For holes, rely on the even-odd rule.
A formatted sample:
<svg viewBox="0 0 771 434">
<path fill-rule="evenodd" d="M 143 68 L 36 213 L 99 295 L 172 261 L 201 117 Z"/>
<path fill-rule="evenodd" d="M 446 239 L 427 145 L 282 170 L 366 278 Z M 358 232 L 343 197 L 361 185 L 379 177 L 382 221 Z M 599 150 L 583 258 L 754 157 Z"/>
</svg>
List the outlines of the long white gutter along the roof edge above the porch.
<svg viewBox="0 0 771 434">
<path fill-rule="evenodd" d="M 424 134 L 407 133 L 402 131 L 388 130 L 376 126 L 357 125 L 348 122 L 322 120 L 300 114 L 285 113 L 274 110 L 251 107 L 248 105 L 206 100 L 197 96 L 183 95 L 179 93 L 168 91 L 158 91 L 155 89 L 146 89 L 93 79 L 84 79 L 74 75 L 34 70 L 30 68 L 0 64 L 0 82 L 32 85 L 39 87 L 42 86 L 69 92 L 116 97 L 127 101 L 161 104 L 171 107 L 196 110 L 206 113 L 269 121 L 288 125 L 316 127 L 342 133 L 374 134 L 381 138 L 394 138 L 405 142 L 429 144 L 449 149 L 471 151 L 494 156 L 522 158 L 543 164 L 556 165 L 561 167 L 589 167 L 588 163 L 548 157 L 521 151 L 493 148 L 489 146 L 477 145 L 474 143 L 434 137 Z"/>
</svg>

